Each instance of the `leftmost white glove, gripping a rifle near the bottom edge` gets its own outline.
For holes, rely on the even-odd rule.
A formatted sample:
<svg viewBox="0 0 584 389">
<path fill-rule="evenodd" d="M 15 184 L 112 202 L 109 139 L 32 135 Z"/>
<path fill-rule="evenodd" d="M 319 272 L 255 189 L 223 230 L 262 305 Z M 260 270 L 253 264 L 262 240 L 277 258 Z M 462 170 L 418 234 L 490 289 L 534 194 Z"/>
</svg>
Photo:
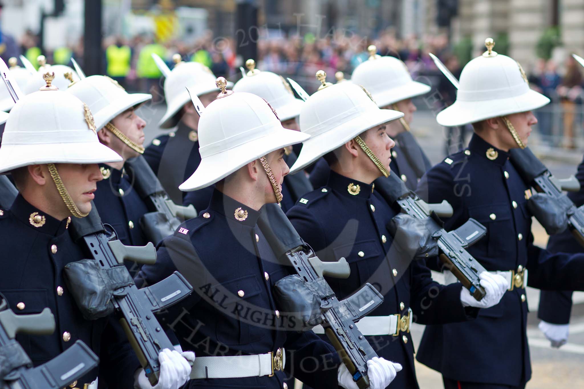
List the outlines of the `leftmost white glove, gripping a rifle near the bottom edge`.
<svg viewBox="0 0 584 389">
<path fill-rule="evenodd" d="M 190 364 L 187 359 L 194 361 L 192 351 L 184 352 L 183 355 L 169 349 L 162 350 L 158 354 L 160 362 L 158 383 L 152 386 L 144 369 L 138 369 L 138 377 L 134 381 L 134 387 L 138 389 L 178 389 L 182 387 L 189 380 L 190 375 Z"/>
</svg>

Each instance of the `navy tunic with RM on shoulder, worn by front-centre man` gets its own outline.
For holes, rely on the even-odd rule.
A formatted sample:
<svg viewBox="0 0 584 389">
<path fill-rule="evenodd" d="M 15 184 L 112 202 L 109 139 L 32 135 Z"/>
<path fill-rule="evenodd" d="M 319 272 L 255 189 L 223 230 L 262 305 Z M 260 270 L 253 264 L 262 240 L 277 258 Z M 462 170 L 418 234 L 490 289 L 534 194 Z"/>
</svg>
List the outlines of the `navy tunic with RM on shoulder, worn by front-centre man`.
<svg viewBox="0 0 584 389">
<path fill-rule="evenodd" d="M 240 209 L 245 217 L 238 220 Z M 200 357 L 275 353 L 284 347 L 289 374 L 336 389 L 339 359 L 332 346 L 312 331 L 286 331 L 290 322 L 277 312 L 272 288 L 290 273 L 256 225 L 258 216 L 215 190 L 207 209 L 159 244 L 156 264 L 142 267 L 136 283 L 151 285 L 178 269 L 193 285 L 192 296 L 161 315 L 183 350 Z M 321 355 L 322 362 L 313 357 Z M 286 375 L 191 380 L 187 387 L 281 389 Z"/>
</svg>

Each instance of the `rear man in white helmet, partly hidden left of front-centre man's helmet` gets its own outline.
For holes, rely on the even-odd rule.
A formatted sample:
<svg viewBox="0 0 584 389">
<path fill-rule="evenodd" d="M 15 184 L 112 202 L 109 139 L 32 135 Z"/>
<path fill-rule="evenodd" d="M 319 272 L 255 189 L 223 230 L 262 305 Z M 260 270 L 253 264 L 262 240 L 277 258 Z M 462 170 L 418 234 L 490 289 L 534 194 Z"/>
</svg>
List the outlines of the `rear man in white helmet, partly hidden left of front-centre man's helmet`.
<svg viewBox="0 0 584 389">
<path fill-rule="evenodd" d="M 157 174 L 169 197 L 178 205 L 183 204 L 184 193 L 178 190 L 201 162 L 199 153 L 199 115 L 195 110 L 188 86 L 195 93 L 203 106 L 207 106 L 219 89 L 215 85 L 215 76 L 207 66 L 198 62 L 182 62 L 179 54 L 173 56 L 175 68 L 172 72 L 165 68 L 164 62 L 157 62 L 165 74 L 164 97 L 166 113 L 158 123 L 160 128 L 176 130 L 158 136 L 144 152 L 144 158 Z M 162 63 L 161 63 L 162 62 Z M 231 86 L 232 83 L 228 83 Z M 206 188 L 192 195 L 192 202 L 197 211 L 207 208 L 213 188 Z M 188 204 L 185 204 L 188 205 Z"/>
</svg>

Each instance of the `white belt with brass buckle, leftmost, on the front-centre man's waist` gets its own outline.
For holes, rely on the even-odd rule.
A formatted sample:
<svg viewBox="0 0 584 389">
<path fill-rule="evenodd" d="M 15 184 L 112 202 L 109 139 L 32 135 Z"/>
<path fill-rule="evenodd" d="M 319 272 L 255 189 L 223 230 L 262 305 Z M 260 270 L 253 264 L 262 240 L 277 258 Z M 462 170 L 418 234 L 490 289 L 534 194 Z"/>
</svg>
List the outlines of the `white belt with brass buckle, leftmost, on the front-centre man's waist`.
<svg viewBox="0 0 584 389">
<path fill-rule="evenodd" d="M 284 349 L 275 353 L 236 356 L 197 356 L 190 370 L 190 379 L 272 377 L 276 370 L 284 370 Z"/>
</svg>

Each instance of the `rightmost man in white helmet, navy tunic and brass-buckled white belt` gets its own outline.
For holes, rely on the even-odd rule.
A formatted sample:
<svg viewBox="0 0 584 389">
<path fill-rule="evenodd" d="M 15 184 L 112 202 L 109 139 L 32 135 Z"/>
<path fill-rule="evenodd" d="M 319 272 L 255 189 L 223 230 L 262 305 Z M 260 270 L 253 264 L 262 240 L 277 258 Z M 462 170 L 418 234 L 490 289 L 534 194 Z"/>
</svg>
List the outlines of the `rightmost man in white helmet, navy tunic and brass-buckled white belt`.
<svg viewBox="0 0 584 389">
<path fill-rule="evenodd" d="M 450 202 L 454 214 L 444 220 L 447 230 L 468 218 L 486 227 L 486 236 L 468 252 L 505 276 L 510 287 L 500 304 L 482 310 L 472 323 L 426 327 L 417 358 L 442 373 L 446 389 L 525 387 L 531 377 L 527 269 L 534 288 L 584 288 L 584 255 L 534 246 L 530 186 L 509 161 L 509 150 L 524 148 L 537 123 L 532 110 L 550 100 L 529 88 L 517 61 L 492 50 L 491 39 L 485 45 L 488 50 L 464 66 L 454 104 L 436 118 L 446 127 L 472 123 L 470 144 L 430 169 L 417 192 L 429 202 Z M 451 274 L 445 276 L 452 282 Z"/>
</svg>

